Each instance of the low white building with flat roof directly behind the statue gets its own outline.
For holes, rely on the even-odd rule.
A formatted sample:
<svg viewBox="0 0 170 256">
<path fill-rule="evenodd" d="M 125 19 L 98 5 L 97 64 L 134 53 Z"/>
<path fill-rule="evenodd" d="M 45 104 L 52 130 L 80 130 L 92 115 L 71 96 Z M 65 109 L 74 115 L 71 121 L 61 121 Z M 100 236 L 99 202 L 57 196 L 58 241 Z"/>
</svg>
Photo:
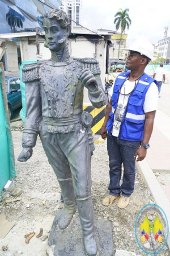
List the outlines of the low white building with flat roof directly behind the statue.
<svg viewBox="0 0 170 256">
<path fill-rule="evenodd" d="M 99 35 L 97 35 L 99 34 Z M 15 34 L 0 34 L 0 40 L 19 40 L 21 59 L 23 61 L 37 60 L 36 32 L 22 32 Z M 41 60 L 50 59 L 51 52 L 44 47 L 44 31 L 39 34 L 39 48 Z M 69 38 L 69 51 L 75 58 L 95 58 L 99 61 L 101 80 L 105 83 L 105 73 L 108 66 L 108 49 L 111 43 L 111 34 L 107 30 L 87 31 L 83 28 L 74 30 Z M 14 69 L 16 70 L 16 69 Z"/>
</svg>

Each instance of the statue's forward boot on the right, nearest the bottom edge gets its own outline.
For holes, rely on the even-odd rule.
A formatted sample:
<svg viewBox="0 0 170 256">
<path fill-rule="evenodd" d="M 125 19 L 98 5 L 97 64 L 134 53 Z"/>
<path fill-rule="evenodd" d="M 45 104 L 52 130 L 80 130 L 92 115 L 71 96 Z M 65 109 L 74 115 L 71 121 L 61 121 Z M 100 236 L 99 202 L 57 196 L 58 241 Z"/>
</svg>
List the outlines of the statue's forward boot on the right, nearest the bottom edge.
<svg viewBox="0 0 170 256">
<path fill-rule="evenodd" d="M 91 197 L 76 199 L 76 204 L 78 205 L 86 253 L 88 256 L 95 256 L 97 245 L 94 237 L 94 209 Z"/>
</svg>

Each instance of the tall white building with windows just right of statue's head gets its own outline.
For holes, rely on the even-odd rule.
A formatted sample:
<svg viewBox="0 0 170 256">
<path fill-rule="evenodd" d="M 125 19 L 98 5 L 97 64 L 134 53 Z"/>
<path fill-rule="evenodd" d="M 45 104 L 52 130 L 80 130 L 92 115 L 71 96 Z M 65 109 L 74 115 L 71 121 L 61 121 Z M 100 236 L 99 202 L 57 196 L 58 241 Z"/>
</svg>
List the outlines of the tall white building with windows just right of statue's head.
<svg viewBox="0 0 170 256">
<path fill-rule="evenodd" d="M 63 0 L 60 9 L 70 18 L 71 27 L 79 27 L 82 23 L 82 0 Z"/>
</svg>

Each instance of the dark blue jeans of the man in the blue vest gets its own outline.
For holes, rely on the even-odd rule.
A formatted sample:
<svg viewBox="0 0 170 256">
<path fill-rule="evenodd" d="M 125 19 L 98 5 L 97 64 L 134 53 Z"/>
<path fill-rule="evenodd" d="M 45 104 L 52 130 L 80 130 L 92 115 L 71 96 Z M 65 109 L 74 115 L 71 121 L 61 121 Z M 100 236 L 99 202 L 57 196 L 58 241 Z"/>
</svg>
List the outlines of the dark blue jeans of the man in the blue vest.
<svg viewBox="0 0 170 256">
<path fill-rule="evenodd" d="M 109 155 L 110 184 L 109 191 L 112 196 L 129 197 L 134 191 L 135 181 L 135 152 L 141 145 L 141 141 L 125 141 L 114 136 L 107 139 Z M 124 176 L 122 185 L 120 180 L 122 175 L 122 163 L 124 164 Z"/>
</svg>

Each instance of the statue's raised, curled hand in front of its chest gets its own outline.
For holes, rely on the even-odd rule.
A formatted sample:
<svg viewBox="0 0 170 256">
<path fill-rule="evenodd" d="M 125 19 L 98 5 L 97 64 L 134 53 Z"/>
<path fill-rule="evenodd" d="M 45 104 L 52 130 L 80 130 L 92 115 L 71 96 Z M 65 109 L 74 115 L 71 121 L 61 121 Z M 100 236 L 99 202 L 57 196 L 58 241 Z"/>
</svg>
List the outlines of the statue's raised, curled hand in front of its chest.
<svg viewBox="0 0 170 256">
<path fill-rule="evenodd" d="M 84 68 L 80 72 L 78 79 L 91 92 L 94 92 L 98 88 L 97 81 L 89 68 Z"/>
</svg>

